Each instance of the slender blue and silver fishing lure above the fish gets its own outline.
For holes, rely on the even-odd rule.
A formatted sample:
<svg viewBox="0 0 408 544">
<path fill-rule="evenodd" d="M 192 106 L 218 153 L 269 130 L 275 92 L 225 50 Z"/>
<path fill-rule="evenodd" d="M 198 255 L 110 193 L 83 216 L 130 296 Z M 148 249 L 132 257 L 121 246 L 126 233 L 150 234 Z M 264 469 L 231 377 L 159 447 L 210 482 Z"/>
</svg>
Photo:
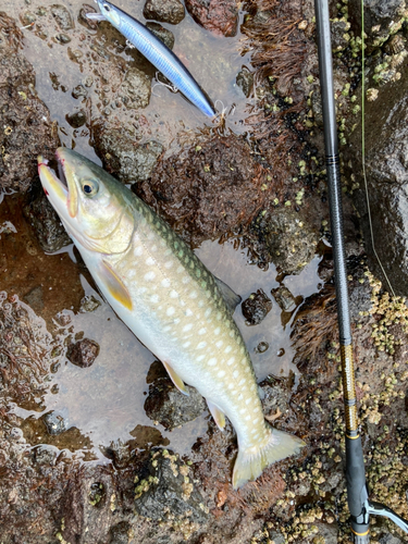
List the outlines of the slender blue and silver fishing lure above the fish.
<svg viewBox="0 0 408 544">
<path fill-rule="evenodd" d="M 92 21 L 109 21 L 148 61 L 153 64 L 205 115 L 214 108 L 182 61 L 139 21 L 104 0 L 96 0 L 100 13 L 87 13 Z"/>
</svg>

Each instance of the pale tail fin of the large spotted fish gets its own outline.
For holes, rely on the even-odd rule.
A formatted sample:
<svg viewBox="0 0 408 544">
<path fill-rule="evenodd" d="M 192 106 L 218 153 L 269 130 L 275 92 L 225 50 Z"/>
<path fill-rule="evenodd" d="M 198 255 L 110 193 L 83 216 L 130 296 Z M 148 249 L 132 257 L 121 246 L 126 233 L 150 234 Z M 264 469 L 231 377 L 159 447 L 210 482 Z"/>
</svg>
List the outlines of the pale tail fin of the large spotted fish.
<svg viewBox="0 0 408 544">
<path fill-rule="evenodd" d="M 262 470 L 273 462 L 285 459 L 290 455 L 298 454 L 306 444 L 302 440 L 283 431 L 270 428 L 270 438 L 265 446 L 258 450 L 254 447 L 239 447 L 233 474 L 234 490 L 243 486 L 250 480 L 256 480 Z"/>
</svg>

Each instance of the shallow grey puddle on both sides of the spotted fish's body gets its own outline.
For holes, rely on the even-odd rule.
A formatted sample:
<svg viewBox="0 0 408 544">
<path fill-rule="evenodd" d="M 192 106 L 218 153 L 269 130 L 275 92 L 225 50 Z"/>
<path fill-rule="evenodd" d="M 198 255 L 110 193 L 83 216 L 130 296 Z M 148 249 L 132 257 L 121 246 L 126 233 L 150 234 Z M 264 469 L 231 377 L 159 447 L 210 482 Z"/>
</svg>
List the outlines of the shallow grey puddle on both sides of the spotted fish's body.
<svg viewBox="0 0 408 544">
<path fill-rule="evenodd" d="M 268 374 L 287 375 L 290 370 L 297 373 L 292 362 L 294 351 L 289 323 L 282 325 L 282 310 L 270 294 L 272 288 L 279 286 L 274 267 L 263 272 L 248 264 L 246 251 L 234 249 L 232 243 L 220 245 L 208 242 L 197 254 L 243 300 L 258 288 L 262 288 L 273 300 L 272 310 L 256 326 L 245 324 L 240 306 L 235 311 L 258 379 L 262 380 Z M 290 285 L 295 296 L 300 294 L 306 297 L 318 290 L 319 261 L 320 257 L 316 257 L 299 275 L 285 279 L 285 285 Z M 154 426 L 144 410 L 148 393 L 147 375 L 154 356 L 116 318 L 84 276 L 81 281 L 85 294 L 98 300 L 100 306 L 91 312 L 61 312 L 58 321 L 64 324 L 59 327 L 59 344 L 66 347 L 69 342 L 87 337 L 100 345 L 100 354 L 90 368 L 78 368 L 62 356 L 53 364 L 50 385 L 41 400 L 41 412 L 21 408 L 18 403 L 14 405 L 14 413 L 25 420 L 22 428 L 27 442 L 33 446 L 51 444 L 60 449 L 76 452 L 75 457 L 99 462 L 107 460 L 106 448 L 112 443 L 127 443 L 137 448 L 169 445 L 180 454 L 188 455 L 197 438 L 207 432 L 208 413 L 172 432 L 160 424 Z M 269 344 L 262 354 L 256 351 L 260 342 Z M 67 431 L 51 437 L 45 432 L 42 418 L 50 411 L 63 418 Z"/>
</svg>

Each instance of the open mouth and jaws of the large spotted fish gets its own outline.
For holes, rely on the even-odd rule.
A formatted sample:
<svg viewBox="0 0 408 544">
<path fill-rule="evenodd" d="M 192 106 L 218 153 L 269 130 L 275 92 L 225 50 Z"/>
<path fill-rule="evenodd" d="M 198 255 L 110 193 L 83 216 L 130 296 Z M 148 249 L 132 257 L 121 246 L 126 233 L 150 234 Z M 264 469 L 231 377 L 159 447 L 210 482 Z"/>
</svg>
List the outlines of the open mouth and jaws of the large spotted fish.
<svg viewBox="0 0 408 544">
<path fill-rule="evenodd" d="M 38 174 L 42 184 L 44 191 L 51 200 L 51 203 L 59 213 L 69 211 L 71 218 L 74 218 L 78 209 L 77 190 L 74 182 L 74 173 L 67 164 L 64 148 L 58 148 L 55 151 L 58 175 L 49 166 L 49 162 L 42 156 L 38 157 Z"/>
</svg>

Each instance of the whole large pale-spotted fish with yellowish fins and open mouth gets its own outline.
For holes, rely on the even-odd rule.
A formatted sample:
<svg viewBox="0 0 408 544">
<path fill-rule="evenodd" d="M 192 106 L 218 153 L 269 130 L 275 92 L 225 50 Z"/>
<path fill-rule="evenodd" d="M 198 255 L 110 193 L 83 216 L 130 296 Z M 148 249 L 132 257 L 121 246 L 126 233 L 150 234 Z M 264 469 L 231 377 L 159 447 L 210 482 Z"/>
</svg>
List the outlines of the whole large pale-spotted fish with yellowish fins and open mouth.
<svg viewBox="0 0 408 544">
<path fill-rule="evenodd" d="M 239 297 L 125 185 L 75 151 L 55 152 L 60 176 L 38 157 L 44 190 L 100 292 L 163 363 L 175 386 L 193 385 L 217 425 L 237 434 L 233 486 L 300 450 L 264 419 L 248 350 L 233 319 Z"/>
</svg>

